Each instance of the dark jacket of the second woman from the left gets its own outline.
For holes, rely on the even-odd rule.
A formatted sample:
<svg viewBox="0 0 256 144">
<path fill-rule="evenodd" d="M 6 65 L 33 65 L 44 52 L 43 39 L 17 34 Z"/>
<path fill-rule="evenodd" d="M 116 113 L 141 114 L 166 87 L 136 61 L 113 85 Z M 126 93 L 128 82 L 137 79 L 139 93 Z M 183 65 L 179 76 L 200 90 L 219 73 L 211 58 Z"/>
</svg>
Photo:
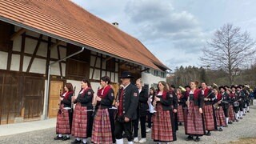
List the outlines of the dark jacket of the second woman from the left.
<svg viewBox="0 0 256 144">
<path fill-rule="evenodd" d="M 93 109 L 92 99 L 94 98 L 94 90 L 89 89 L 82 94 L 78 94 L 78 98 L 74 101 L 74 103 L 80 102 L 81 106 L 87 106 L 88 110 Z"/>
</svg>

